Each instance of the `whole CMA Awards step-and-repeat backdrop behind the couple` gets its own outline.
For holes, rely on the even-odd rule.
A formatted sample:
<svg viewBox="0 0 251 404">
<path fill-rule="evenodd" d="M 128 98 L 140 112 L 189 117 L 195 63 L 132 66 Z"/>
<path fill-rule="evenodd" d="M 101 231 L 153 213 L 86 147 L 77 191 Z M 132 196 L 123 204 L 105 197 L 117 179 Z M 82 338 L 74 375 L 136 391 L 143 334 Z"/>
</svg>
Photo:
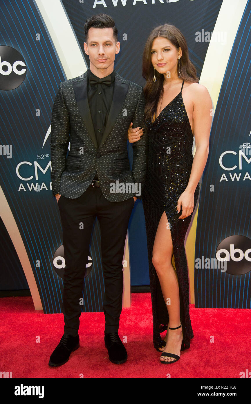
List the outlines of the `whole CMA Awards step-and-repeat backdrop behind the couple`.
<svg viewBox="0 0 251 404">
<path fill-rule="evenodd" d="M 115 69 L 144 86 L 151 29 L 176 25 L 213 101 L 209 158 L 186 238 L 191 303 L 251 307 L 251 4 L 247 0 L 2 0 L 0 2 L 0 290 L 30 289 L 36 309 L 60 313 L 64 255 L 51 190 L 50 121 L 60 82 L 85 72 L 84 23 L 115 20 Z M 69 144 L 70 149 L 70 144 Z M 194 147 L 195 152 L 195 147 Z M 128 143 L 132 164 L 132 145 Z M 149 285 L 144 212 L 137 200 L 124 267 Z M 83 311 L 102 311 L 100 232 L 83 267 Z"/>
</svg>

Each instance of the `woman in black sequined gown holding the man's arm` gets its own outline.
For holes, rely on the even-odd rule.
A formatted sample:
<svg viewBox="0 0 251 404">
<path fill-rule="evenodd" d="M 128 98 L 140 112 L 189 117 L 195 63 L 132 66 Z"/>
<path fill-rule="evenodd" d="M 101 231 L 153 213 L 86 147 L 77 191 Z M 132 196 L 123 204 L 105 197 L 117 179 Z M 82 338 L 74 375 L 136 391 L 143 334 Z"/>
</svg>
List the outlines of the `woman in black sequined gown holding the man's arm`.
<svg viewBox="0 0 251 404">
<path fill-rule="evenodd" d="M 198 84 L 186 40 L 174 25 L 153 29 L 143 52 L 149 156 L 142 202 L 153 308 L 153 344 L 174 363 L 193 338 L 184 239 L 199 196 L 211 129 L 211 97 Z M 144 129 L 128 130 L 134 143 Z M 195 136 L 196 152 L 192 145 Z M 174 266 L 172 256 L 174 255 Z M 167 330 L 162 341 L 160 332 Z"/>
</svg>

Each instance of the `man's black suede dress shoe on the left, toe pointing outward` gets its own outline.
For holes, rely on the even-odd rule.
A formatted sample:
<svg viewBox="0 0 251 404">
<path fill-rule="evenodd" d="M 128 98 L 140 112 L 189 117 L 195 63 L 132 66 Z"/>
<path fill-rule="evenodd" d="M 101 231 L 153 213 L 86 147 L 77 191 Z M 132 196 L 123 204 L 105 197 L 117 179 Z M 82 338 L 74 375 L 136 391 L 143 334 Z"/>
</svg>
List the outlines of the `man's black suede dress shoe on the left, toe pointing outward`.
<svg viewBox="0 0 251 404">
<path fill-rule="evenodd" d="M 69 360 L 72 351 L 79 348 L 79 335 L 64 334 L 50 356 L 49 366 L 61 366 Z"/>
</svg>

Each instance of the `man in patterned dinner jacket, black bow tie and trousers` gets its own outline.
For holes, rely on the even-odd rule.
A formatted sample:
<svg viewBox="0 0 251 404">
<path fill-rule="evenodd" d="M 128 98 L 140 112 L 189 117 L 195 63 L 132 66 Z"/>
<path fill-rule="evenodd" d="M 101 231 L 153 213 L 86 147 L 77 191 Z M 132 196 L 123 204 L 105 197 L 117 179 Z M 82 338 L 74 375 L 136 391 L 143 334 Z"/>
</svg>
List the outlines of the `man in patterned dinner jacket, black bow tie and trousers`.
<svg viewBox="0 0 251 404">
<path fill-rule="evenodd" d="M 52 195 L 56 196 L 63 229 L 65 273 L 64 335 L 50 356 L 50 366 L 67 362 L 79 347 L 79 317 L 85 265 L 95 218 L 101 232 L 105 282 L 105 346 L 113 363 L 127 360 L 119 338 L 123 293 L 123 252 L 128 222 L 144 185 L 147 136 L 142 86 L 129 82 L 114 69 L 119 53 L 117 28 L 106 14 L 94 15 L 84 25 L 85 53 L 90 69 L 82 77 L 60 83 L 51 120 Z M 133 144 L 132 171 L 127 153 L 131 124 L 142 135 Z M 137 128 L 137 129 L 136 129 Z M 70 151 L 66 158 L 70 141 Z M 113 184 L 136 185 L 114 191 Z M 138 192 L 139 198 L 141 198 Z"/>
</svg>

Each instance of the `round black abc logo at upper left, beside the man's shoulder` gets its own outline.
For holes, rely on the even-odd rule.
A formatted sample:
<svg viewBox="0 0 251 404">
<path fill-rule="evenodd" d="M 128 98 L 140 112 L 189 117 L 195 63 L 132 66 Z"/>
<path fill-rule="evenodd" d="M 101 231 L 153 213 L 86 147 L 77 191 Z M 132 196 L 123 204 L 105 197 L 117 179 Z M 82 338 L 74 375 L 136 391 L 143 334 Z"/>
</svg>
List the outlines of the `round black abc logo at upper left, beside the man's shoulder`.
<svg viewBox="0 0 251 404">
<path fill-rule="evenodd" d="M 0 46 L 0 90 L 14 90 L 26 76 L 26 63 L 21 53 L 10 46 Z"/>
</svg>

